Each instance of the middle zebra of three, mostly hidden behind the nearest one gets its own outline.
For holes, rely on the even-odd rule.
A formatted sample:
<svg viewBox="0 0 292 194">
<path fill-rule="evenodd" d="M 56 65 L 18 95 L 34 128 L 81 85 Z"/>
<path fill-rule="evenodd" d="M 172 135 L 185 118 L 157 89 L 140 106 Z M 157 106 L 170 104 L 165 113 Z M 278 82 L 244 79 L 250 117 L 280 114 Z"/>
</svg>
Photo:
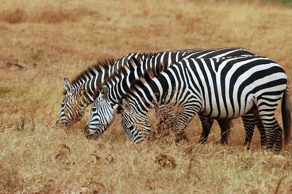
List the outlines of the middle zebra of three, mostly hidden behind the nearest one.
<svg viewBox="0 0 292 194">
<path fill-rule="evenodd" d="M 116 105 L 118 103 L 118 99 L 125 94 L 127 89 L 129 88 L 131 82 L 139 77 L 139 75 L 143 75 L 144 72 L 148 69 L 151 71 L 158 71 L 159 64 L 164 64 L 166 66 L 170 66 L 171 64 L 183 59 L 183 58 L 201 58 L 201 57 L 213 57 L 218 58 L 222 56 L 240 56 L 240 55 L 255 55 L 247 50 L 242 48 L 223 48 L 223 49 L 211 49 L 211 50 L 188 50 L 186 51 L 174 51 L 174 52 L 162 52 L 155 53 L 150 56 L 150 59 L 146 60 L 146 62 L 141 63 L 141 65 L 130 65 L 129 68 L 124 70 L 120 70 L 119 73 L 112 74 L 107 81 L 104 83 L 104 87 L 101 88 L 103 92 L 97 92 L 96 96 L 99 96 L 94 102 L 91 109 L 91 116 L 86 125 L 86 130 L 90 131 L 90 134 L 94 134 L 95 136 L 101 135 L 112 123 L 114 118 L 114 113 L 116 109 Z M 137 59 L 135 57 L 134 59 Z M 130 61 L 130 60 L 129 60 Z M 142 60 L 140 60 L 142 61 Z M 128 62 L 127 62 L 128 63 Z M 129 64 L 128 64 L 129 65 Z M 131 70 L 135 70 L 130 73 Z M 102 85 L 101 85 L 102 86 Z M 213 123 L 213 119 L 206 118 L 204 116 L 200 116 L 201 123 L 203 126 L 203 132 L 200 138 L 200 142 L 205 142 L 209 135 L 209 131 L 211 128 L 211 124 Z M 255 123 L 253 120 L 246 118 L 249 123 Z M 258 122 L 260 123 L 260 122 Z M 219 123 L 221 127 L 222 143 L 227 142 L 227 132 L 229 129 L 230 123 L 226 123 L 221 121 Z M 261 124 L 262 125 L 262 124 Z M 249 126 L 246 124 L 246 126 Z M 263 128 L 263 127 L 259 127 Z M 252 138 L 254 128 L 249 127 L 247 132 L 246 144 L 249 144 Z M 265 134 L 263 132 L 263 134 Z M 265 138 L 265 135 L 262 137 Z M 263 140 L 265 141 L 265 140 Z"/>
</svg>

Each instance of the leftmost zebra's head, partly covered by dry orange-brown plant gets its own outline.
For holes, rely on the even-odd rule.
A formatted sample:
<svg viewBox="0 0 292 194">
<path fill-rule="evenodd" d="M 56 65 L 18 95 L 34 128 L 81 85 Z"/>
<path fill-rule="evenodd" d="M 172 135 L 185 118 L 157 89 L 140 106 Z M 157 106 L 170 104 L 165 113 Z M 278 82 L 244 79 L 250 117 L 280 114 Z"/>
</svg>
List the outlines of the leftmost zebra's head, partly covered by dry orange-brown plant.
<svg viewBox="0 0 292 194">
<path fill-rule="evenodd" d="M 86 93 L 84 88 L 73 88 L 67 78 L 64 79 L 64 87 L 65 96 L 61 103 L 61 113 L 56 124 L 67 126 L 69 123 L 74 123 L 82 119 L 84 109 L 88 104 L 86 100 L 84 100 L 84 95 Z"/>
</svg>

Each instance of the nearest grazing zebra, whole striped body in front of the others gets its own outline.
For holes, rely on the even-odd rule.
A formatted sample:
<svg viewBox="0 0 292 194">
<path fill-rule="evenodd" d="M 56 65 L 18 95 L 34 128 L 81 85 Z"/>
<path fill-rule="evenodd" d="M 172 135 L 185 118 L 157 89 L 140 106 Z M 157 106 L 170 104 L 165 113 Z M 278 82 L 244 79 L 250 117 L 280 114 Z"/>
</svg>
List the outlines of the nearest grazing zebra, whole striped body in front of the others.
<svg viewBox="0 0 292 194">
<path fill-rule="evenodd" d="M 284 69 L 262 56 L 183 59 L 136 79 L 119 99 L 118 112 L 131 141 L 144 141 L 150 107 L 173 103 L 181 108 L 174 132 L 186 140 L 184 129 L 200 113 L 213 119 L 235 119 L 250 110 L 258 114 L 267 134 L 267 149 L 282 149 L 282 128 L 274 111 L 282 99 L 284 143 L 290 138 L 291 103 Z"/>
</svg>

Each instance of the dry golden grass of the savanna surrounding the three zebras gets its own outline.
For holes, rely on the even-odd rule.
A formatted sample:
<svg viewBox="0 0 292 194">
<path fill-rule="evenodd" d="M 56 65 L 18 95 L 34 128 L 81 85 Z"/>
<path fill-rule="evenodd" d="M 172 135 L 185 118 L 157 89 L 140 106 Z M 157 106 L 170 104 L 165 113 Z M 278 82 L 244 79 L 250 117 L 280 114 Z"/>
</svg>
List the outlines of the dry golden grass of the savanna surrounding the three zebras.
<svg viewBox="0 0 292 194">
<path fill-rule="evenodd" d="M 240 119 L 226 146 L 216 122 L 207 144 L 197 144 L 197 117 L 186 130 L 191 142 L 178 145 L 170 133 L 126 146 L 119 116 L 98 140 L 83 135 L 88 112 L 69 128 L 55 126 L 65 77 L 131 52 L 243 47 L 281 64 L 292 83 L 292 7 L 223 0 L 0 4 L 0 193 L 292 192 L 291 141 L 279 155 L 265 153 L 256 130 L 249 152 Z M 280 111 L 276 116 L 282 125 Z M 161 153 L 173 156 L 176 168 L 155 164 Z"/>
</svg>

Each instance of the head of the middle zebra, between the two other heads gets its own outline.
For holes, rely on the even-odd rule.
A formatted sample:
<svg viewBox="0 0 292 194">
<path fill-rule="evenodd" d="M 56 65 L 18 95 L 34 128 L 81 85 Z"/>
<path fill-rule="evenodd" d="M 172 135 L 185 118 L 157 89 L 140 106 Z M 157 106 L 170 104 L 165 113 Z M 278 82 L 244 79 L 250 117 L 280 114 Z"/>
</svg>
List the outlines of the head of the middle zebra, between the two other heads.
<svg viewBox="0 0 292 194">
<path fill-rule="evenodd" d="M 108 92 L 109 88 L 103 86 L 99 91 L 99 96 L 91 107 L 90 118 L 84 130 L 85 133 L 88 133 L 87 137 L 97 138 L 107 130 L 113 122 L 118 105 L 110 100 Z"/>
</svg>

